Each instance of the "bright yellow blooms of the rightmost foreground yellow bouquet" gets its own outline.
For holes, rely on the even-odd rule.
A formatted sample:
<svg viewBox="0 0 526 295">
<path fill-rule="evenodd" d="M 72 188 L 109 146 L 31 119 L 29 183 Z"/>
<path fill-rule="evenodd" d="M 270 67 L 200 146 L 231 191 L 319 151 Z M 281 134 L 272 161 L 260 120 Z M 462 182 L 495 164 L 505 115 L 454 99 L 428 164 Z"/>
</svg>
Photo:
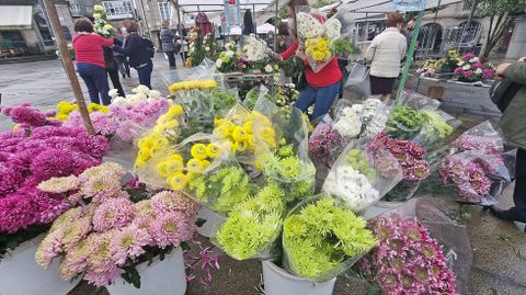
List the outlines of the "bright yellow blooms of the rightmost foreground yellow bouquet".
<svg viewBox="0 0 526 295">
<path fill-rule="evenodd" d="M 214 134 L 225 140 L 231 152 L 254 151 L 259 140 L 276 147 L 275 131 L 268 117 L 259 112 L 233 115 L 214 122 Z"/>
</svg>

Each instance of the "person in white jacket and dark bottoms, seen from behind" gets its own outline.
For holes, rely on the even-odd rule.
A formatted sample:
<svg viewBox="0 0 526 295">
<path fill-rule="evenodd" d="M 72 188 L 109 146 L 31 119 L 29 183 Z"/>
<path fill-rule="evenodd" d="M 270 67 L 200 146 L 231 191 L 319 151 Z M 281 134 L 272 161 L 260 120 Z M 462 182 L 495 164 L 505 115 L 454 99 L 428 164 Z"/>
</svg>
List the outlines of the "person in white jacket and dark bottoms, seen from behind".
<svg viewBox="0 0 526 295">
<path fill-rule="evenodd" d="M 377 35 L 367 48 L 365 58 L 370 63 L 370 91 L 373 95 L 381 95 L 389 100 L 395 81 L 400 75 L 400 67 L 408 42 L 400 33 L 403 15 L 391 12 L 387 16 L 387 29 Z"/>
</svg>

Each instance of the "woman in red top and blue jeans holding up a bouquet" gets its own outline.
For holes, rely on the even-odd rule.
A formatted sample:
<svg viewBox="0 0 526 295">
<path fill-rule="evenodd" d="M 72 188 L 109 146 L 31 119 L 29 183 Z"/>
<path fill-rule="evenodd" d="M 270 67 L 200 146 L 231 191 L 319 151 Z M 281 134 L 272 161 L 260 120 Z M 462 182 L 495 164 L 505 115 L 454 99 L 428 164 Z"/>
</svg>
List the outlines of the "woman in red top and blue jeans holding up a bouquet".
<svg viewBox="0 0 526 295">
<path fill-rule="evenodd" d="M 296 7 L 300 5 L 308 5 L 308 2 L 306 0 L 290 0 L 287 4 L 288 16 L 293 19 L 294 27 L 296 27 Z M 296 32 L 294 34 L 296 35 Z M 309 63 L 307 63 L 307 56 L 304 53 L 304 48 L 299 46 L 297 37 L 294 44 L 281 54 L 281 57 L 282 59 L 288 59 L 293 55 L 304 60 L 304 73 L 307 79 L 307 87 L 299 93 L 298 100 L 294 105 L 306 112 L 309 106 L 315 104 L 312 118 L 315 121 L 319 120 L 329 113 L 340 92 L 342 71 L 338 65 L 338 59 L 333 58 L 320 71 L 315 72 L 310 68 Z"/>
</svg>

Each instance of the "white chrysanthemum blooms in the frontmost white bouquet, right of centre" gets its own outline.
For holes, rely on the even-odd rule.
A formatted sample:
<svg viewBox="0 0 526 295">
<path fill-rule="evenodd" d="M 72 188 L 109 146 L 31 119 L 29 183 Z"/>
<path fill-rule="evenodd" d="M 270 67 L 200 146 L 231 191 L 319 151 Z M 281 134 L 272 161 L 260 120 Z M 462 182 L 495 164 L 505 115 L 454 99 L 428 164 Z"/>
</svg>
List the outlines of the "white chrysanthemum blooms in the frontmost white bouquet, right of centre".
<svg viewBox="0 0 526 295">
<path fill-rule="evenodd" d="M 346 164 L 334 167 L 329 172 L 323 191 L 341 197 L 353 212 L 362 212 L 380 198 L 367 177 Z"/>
</svg>

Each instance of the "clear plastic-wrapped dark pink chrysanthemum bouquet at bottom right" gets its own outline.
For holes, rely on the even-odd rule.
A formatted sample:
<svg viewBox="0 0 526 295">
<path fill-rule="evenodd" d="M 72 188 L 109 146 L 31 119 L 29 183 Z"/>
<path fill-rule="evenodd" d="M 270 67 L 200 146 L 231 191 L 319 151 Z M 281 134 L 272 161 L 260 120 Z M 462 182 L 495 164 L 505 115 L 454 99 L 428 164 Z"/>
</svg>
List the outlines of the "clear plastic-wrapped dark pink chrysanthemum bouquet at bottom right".
<svg viewBox="0 0 526 295">
<path fill-rule="evenodd" d="M 438 209 L 444 204 L 435 204 L 433 198 L 415 198 L 400 205 L 369 220 L 369 228 L 379 238 L 380 246 L 356 264 L 358 272 L 370 282 L 380 283 L 386 292 L 403 290 L 407 294 L 465 294 L 473 260 L 466 227 L 447 217 Z M 433 251 L 432 259 L 423 250 Z M 384 256 L 385 251 L 392 254 Z M 418 275 L 415 263 L 420 268 L 433 268 L 436 272 L 428 273 L 433 277 L 425 283 L 419 280 L 411 286 L 403 286 L 404 275 Z M 386 268 L 396 265 L 402 265 L 404 271 L 389 272 L 390 276 L 386 277 Z M 455 275 L 451 275 L 451 271 Z M 411 288 L 413 286 L 414 290 Z"/>
</svg>

